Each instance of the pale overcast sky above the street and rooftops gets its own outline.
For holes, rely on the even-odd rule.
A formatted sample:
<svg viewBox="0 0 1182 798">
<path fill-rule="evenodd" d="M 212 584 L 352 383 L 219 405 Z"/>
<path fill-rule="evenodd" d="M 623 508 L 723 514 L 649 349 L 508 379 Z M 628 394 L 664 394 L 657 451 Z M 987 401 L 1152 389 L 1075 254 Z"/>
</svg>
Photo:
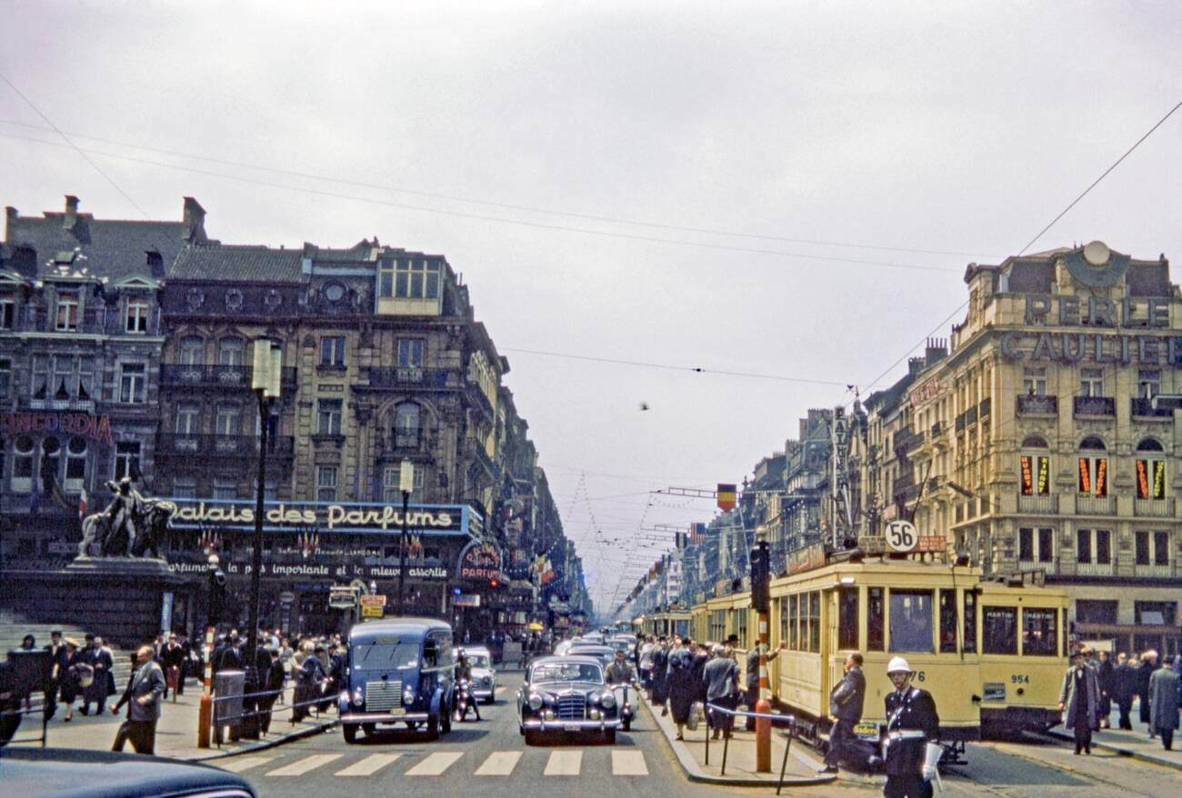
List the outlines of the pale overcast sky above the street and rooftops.
<svg viewBox="0 0 1182 798">
<path fill-rule="evenodd" d="M 191 195 L 225 242 L 447 255 L 597 604 L 656 556 L 638 530 L 713 514 L 648 491 L 741 481 L 808 408 L 947 337 L 965 266 L 1017 254 L 1182 100 L 1169 1 L 0 0 L 0 72 L 131 199 L 0 82 L 0 205 L 176 220 Z M 1030 251 L 1182 262 L 1180 142 L 1182 111 Z"/>
</svg>

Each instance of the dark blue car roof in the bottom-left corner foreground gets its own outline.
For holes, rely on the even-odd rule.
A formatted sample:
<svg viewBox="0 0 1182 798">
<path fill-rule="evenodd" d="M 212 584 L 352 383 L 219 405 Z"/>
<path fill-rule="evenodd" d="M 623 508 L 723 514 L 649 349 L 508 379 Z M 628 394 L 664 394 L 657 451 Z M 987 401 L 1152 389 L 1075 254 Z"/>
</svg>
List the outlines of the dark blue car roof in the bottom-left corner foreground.
<svg viewBox="0 0 1182 798">
<path fill-rule="evenodd" d="M 209 791 L 254 796 L 245 779 L 209 765 L 109 751 L 9 747 L 0 770 L 5 793 L 21 798 L 137 798 Z"/>
</svg>

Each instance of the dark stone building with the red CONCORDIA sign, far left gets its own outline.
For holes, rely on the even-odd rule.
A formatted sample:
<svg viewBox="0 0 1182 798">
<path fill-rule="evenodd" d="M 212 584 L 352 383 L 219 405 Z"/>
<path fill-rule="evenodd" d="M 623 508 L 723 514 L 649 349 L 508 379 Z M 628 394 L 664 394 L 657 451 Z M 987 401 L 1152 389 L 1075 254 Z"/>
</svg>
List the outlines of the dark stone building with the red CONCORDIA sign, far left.
<svg viewBox="0 0 1182 798">
<path fill-rule="evenodd" d="M 79 515 L 109 480 L 154 485 L 160 292 L 186 246 L 206 240 L 191 197 L 180 221 L 6 209 L 0 245 L 0 504 L 8 564 L 72 557 Z"/>
</svg>

